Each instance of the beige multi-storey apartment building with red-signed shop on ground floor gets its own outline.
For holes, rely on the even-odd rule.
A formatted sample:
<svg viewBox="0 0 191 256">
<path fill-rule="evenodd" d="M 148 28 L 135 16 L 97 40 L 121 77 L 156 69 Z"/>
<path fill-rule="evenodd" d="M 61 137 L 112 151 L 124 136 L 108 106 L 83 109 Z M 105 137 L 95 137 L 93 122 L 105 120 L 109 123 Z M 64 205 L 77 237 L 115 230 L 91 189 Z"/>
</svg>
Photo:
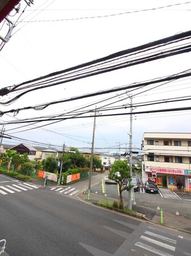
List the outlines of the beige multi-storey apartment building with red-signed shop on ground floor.
<svg viewBox="0 0 191 256">
<path fill-rule="evenodd" d="M 142 153 L 143 182 L 156 173 L 157 185 L 177 189 L 181 182 L 191 191 L 191 133 L 145 132 Z"/>
</svg>

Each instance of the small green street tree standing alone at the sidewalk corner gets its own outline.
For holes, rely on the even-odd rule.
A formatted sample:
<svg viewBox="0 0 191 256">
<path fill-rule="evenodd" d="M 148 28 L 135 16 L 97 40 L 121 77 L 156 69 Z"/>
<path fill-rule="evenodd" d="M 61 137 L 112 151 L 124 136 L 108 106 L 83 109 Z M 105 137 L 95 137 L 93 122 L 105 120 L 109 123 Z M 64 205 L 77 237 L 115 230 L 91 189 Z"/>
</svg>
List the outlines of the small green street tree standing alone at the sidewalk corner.
<svg viewBox="0 0 191 256">
<path fill-rule="evenodd" d="M 124 179 L 128 181 L 131 180 L 130 176 L 130 167 L 128 166 L 127 162 L 124 160 L 115 161 L 113 167 L 109 170 L 109 178 L 114 180 L 118 184 L 119 188 L 119 198 L 120 198 L 120 205 L 119 208 L 123 209 L 123 197 L 122 192 L 127 188 L 130 189 L 130 185 L 123 186 Z"/>
</svg>

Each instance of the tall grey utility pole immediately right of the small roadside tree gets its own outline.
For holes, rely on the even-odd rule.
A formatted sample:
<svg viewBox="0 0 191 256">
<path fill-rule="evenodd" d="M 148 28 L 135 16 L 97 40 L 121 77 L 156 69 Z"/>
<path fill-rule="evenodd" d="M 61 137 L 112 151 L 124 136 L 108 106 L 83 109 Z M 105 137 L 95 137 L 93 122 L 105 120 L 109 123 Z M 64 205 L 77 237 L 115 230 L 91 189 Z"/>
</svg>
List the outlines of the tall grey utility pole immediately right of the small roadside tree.
<svg viewBox="0 0 191 256">
<path fill-rule="evenodd" d="M 132 97 L 130 97 L 130 105 L 131 105 L 131 112 L 130 112 L 130 157 L 129 157 L 129 165 L 130 165 L 130 176 L 132 177 Z M 131 181 L 129 182 L 131 185 Z M 128 209 L 132 210 L 132 188 L 128 190 Z"/>
</svg>

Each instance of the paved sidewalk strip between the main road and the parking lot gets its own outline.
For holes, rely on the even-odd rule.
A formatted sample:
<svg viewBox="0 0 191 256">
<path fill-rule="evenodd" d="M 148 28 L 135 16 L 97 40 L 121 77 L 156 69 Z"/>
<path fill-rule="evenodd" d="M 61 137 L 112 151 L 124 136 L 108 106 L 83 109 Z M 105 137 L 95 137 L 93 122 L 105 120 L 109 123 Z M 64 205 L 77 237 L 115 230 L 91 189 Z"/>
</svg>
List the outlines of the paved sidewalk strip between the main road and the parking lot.
<svg viewBox="0 0 191 256">
<path fill-rule="evenodd" d="M 106 201 L 106 197 L 94 193 L 90 193 L 90 197 L 88 200 L 87 192 L 86 194 L 81 193 L 81 198 L 84 199 L 85 201 L 89 201 L 92 203 Z M 114 201 L 118 200 L 114 200 L 113 198 L 107 197 L 107 202 L 113 203 Z M 124 206 L 128 208 L 128 203 L 124 202 Z M 137 213 L 144 214 L 144 220 L 146 221 L 151 221 L 162 226 L 171 227 L 173 229 L 185 231 L 186 233 L 191 234 L 191 218 L 186 218 L 183 216 L 178 216 L 176 214 L 163 212 L 163 224 L 161 224 L 160 210 L 153 210 L 148 208 L 145 209 L 140 205 L 132 205 L 132 210 L 134 210 Z M 145 215 L 145 212 L 147 212 L 147 215 Z M 148 214 L 148 212 L 150 213 Z"/>
</svg>

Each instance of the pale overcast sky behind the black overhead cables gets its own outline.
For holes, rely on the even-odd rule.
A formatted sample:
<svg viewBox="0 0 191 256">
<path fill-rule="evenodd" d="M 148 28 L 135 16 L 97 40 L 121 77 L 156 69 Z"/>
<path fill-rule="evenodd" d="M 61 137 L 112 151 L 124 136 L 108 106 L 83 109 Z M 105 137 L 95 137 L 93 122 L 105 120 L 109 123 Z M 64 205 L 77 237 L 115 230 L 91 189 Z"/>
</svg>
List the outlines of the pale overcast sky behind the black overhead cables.
<svg viewBox="0 0 191 256">
<path fill-rule="evenodd" d="M 21 1 L 20 10 L 26 7 Z M 11 17 L 16 21 L 12 36 L 0 51 L 0 88 L 10 87 L 52 72 L 65 70 L 82 63 L 105 57 L 155 40 L 190 30 L 191 1 L 63 1 L 34 0 L 24 13 Z M 0 24 L 0 35 L 3 34 Z M 2 33 L 2 34 L 1 34 Z M 1 42 L 0 42 L 1 43 Z M 180 45 L 185 42 L 180 43 Z M 8 94 L 0 98 L 0 110 L 25 108 L 91 94 L 111 88 L 123 87 L 147 80 L 178 74 L 190 69 L 190 52 L 89 78 L 59 84 L 28 92 L 14 103 Z M 2 143 L 47 144 L 75 147 L 80 150 L 92 147 L 94 111 L 97 109 L 94 151 L 128 151 L 130 143 L 130 115 L 103 116 L 105 113 L 130 113 L 132 97 L 132 147 L 140 149 L 144 132 L 190 132 L 191 111 L 159 113 L 134 112 L 176 107 L 190 107 L 190 100 L 167 103 L 167 99 L 191 95 L 190 78 L 171 83 L 149 85 L 139 90 L 126 90 L 49 105 L 43 110 L 27 109 L 17 115 L 1 116 L 1 128 L 8 121 L 63 115 L 81 109 L 88 111 L 83 118 L 67 119 L 51 124 L 6 124 L 5 133 L 20 139 L 5 139 Z M 136 104 L 164 100 L 164 104 L 136 107 Z M 109 105 L 108 105 L 109 104 Z M 110 106 L 110 111 L 103 107 Z M 92 114 L 91 114 L 92 113 Z M 90 116 L 90 117 L 89 117 Z M 27 126 L 26 126 L 27 125 Z M 40 127 L 44 125 L 43 127 Z M 23 141 L 26 140 L 26 141 Z M 27 141 L 28 140 L 28 141 Z M 32 143 L 32 141 L 38 143 Z"/>
</svg>

